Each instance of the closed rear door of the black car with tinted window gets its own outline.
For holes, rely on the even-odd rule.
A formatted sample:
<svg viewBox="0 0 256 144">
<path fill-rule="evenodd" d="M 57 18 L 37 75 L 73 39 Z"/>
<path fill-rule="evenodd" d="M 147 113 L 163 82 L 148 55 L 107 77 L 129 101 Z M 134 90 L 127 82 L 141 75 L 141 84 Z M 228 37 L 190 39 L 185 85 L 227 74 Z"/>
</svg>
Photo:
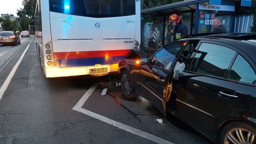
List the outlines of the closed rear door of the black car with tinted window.
<svg viewBox="0 0 256 144">
<path fill-rule="evenodd" d="M 225 114 L 255 99 L 255 66 L 237 50 L 229 44 L 202 41 L 192 54 L 179 78 L 176 98 L 180 118 L 191 126 L 212 133 Z M 245 79 L 251 79 L 250 84 L 237 82 Z"/>
</svg>

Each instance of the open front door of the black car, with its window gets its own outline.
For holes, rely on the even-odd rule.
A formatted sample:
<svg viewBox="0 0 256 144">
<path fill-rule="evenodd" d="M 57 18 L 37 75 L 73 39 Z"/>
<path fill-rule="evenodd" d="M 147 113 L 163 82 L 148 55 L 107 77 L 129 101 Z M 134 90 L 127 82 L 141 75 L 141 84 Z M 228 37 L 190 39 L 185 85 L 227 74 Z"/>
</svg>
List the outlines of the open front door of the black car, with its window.
<svg viewBox="0 0 256 144">
<path fill-rule="evenodd" d="M 143 65 L 140 71 L 142 97 L 148 99 L 165 115 L 166 101 L 172 91 L 173 67 L 185 42 L 164 46 Z"/>
</svg>

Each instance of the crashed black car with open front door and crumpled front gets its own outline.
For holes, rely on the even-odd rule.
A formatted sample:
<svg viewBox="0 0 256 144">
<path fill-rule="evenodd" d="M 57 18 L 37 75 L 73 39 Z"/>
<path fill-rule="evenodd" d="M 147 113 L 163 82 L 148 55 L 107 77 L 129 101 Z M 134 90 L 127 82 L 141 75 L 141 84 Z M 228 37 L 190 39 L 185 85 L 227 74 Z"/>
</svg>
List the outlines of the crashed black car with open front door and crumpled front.
<svg viewBox="0 0 256 144">
<path fill-rule="evenodd" d="M 140 95 L 214 143 L 256 143 L 256 34 L 197 34 L 119 63 L 127 98 Z"/>
</svg>

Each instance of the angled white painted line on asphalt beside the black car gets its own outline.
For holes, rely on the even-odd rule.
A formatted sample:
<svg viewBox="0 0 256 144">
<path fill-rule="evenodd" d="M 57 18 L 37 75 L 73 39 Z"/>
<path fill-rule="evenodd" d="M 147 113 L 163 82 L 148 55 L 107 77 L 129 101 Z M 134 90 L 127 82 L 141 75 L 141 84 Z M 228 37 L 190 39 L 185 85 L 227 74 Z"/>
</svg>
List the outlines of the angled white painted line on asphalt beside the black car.
<svg viewBox="0 0 256 144">
<path fill-rule="evenodd" d="M 90 95 L 92 94 L 92 92 L 96 89 L 96 87 L 98 86 L 98 83 L 94 83 L 92 85 L 92 87 L 83 95 L 83 97 L 76 103 L 75 107 L 73 108 L 73 110 L 79 111 L 80 113 L 83 113 L 85 115 L 91 116 L 93 118 L 99 119 L 102 122 L 108 123 L 110 125 L 116 126 L 119 129 L 125 130 L 127 132 L 139 135 L 140 137 L 146 138 L 148 140 L 157 142 L 157 143 L 172 143 L 170 141 L 166 141 L 164 139 L 158 138 L 155 135 L 143 132 L 141 130 L 135 129 L 131 126 L 116 122 L 110 118 L 107 118 L 105 116 L 101 116 L 99 114 L 93 113 L 92 111 L 86 110 L 84 108 L 82 108 L 82 106 L 84 105 L 84 103 L 86 102 L 86 100 L 90 97 Z M 172 143 L 174 144 L 174 143 Z"/>
</svg>

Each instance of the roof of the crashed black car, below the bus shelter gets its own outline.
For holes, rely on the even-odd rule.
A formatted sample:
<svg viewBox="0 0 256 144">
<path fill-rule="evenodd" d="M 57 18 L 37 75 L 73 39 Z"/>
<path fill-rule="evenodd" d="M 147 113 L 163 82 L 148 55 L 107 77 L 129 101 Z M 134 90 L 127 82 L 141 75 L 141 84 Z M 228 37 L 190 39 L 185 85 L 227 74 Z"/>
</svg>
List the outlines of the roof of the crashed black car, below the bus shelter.
<svg viewBox="0 0 256 144">
<path fill-rule="evenodd" d="M 193 34 L 181 38 L 183 40 L 206 40 L 211 42 L 221 42 L 233 45 L 247 53 L 256 61 L 256 34 L 255 33 L 222 33 L 222 34 Z"/>
</svg>

